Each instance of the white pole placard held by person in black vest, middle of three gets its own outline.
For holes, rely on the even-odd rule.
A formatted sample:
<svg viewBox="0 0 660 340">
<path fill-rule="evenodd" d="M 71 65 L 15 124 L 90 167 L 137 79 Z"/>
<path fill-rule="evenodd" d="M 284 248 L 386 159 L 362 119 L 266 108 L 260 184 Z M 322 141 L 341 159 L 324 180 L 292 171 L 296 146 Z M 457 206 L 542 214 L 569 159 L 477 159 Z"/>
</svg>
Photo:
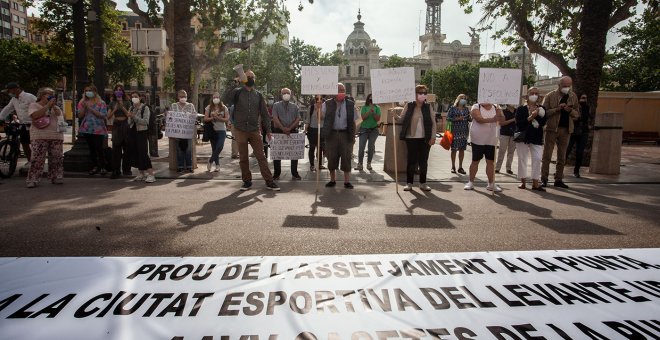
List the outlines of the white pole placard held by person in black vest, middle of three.
<svg viewBox="0 0 660 340">
<path fill-rule="evenodd" d="M 371 69 L 371 93 L 377 104 L 415 100 L 415 69 Z"/>
</svg>

